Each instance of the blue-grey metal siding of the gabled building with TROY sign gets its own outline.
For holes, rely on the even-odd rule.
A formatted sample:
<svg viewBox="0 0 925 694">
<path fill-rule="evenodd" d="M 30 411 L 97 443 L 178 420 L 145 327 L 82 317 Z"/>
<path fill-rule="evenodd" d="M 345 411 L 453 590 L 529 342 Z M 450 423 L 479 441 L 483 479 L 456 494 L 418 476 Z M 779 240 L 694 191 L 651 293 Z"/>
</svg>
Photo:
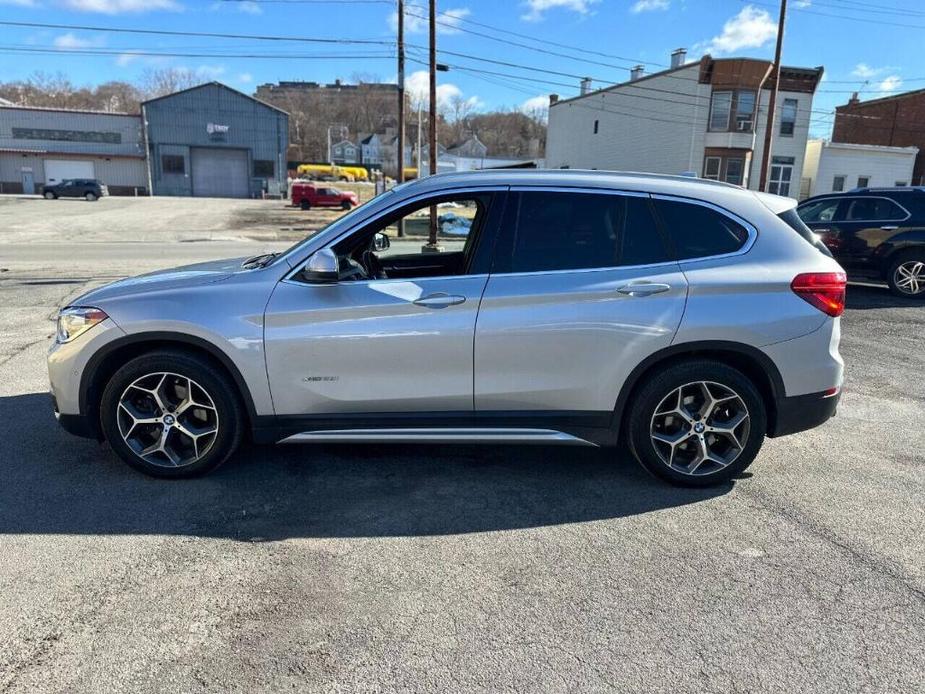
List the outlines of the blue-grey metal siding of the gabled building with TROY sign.
<svg viewBox="0 0 925 694">
<path fill-rule="evenodd" d="M 275 180 L 280 184 L 285 181 L 288 116 L 255 99 L 218 84 L 207 84 L 148 102 L 144 113 L 152 154 L 152 185 L 156 194 L 192 194 L 189 147 L 247 150 L 249 174 L 253 174 L 254 160 L 270 160 L 273 162 Z M 213 127 L 210 132 L 210 124 L 222 127 Z M 225 131 L 218 132 L 220 130 Z M 185 148 L 184 181 L 180 181 L 176 175 L 164 175 L 161 171 L 161 157 L 164 154 L 179 154 L 177 146 Z M 262 186 L 262 180 L 251 177 L 251 195 L 258 195 Z"/>
</svg>

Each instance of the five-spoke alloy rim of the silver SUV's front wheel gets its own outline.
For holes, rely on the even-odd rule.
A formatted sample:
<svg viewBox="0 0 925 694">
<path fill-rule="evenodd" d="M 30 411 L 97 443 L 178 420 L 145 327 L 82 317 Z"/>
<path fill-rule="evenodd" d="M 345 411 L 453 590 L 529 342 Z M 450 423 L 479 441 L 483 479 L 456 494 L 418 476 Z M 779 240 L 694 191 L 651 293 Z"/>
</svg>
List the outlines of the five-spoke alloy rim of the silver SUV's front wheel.
<svg viewBox="0 0 925 694">
<path fill-rule="evenodd" d="M 218 410 L 208 391 L 187 376 L 147 374 L 129 385 L 116 406 L 119 433 L 147 463 L 186 467 L 205 456 L 218 436 Z"/>
</svg>

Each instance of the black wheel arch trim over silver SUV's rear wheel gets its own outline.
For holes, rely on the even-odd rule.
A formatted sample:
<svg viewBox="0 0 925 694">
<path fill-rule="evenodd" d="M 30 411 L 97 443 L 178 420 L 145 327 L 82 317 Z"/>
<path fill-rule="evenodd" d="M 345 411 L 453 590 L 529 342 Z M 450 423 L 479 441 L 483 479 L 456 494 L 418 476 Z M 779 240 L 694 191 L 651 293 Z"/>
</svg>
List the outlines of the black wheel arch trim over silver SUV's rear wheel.
<svg viewBox="0 0 925 694">
<path fill-rule="evenodd" d="M 646 377 L 681 361 L 710 359 L 741 371 L 755 384 L 764 402 L 768 431 L 777 425 L 777 400 L 785 394 L 784 381 L 774 361 L 756 347 L 738 342 L 701 341 L 672 345 L 644 359 L 623 384 L 614 407 L 612 428 L 622 437 L 628 418 L 627 406 Z"/>
</svg>

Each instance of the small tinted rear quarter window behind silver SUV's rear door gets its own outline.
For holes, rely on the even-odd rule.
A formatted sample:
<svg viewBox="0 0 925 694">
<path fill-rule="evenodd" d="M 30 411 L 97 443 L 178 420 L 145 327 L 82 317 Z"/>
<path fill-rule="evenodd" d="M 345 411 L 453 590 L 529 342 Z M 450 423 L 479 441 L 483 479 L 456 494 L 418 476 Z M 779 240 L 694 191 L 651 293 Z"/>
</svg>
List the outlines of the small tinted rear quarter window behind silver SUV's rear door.
<svg viewBox="0 0 925 694">
<path fill-rule="evenodd" d="M 674 200 L 654 202 L 679 259 L 733 253 L 748 240 L 745 227 L 709 207 Z"/>
</svg>

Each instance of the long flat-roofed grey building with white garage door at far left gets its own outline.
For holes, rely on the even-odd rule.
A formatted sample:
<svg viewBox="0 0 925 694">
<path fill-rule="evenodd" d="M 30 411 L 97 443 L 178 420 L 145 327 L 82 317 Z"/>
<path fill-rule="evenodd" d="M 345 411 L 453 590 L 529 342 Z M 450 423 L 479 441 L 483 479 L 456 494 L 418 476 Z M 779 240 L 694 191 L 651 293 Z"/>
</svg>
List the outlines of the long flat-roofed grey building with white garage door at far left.
<svg viewBox="0 0 925 694">
<path fill-rule="evenodd" d="M 0 106 L 0 193 L 40 192 L 65 178 L 98 178 L 114 195 L 146 195 L 141 118 Z"/>
</svg>

